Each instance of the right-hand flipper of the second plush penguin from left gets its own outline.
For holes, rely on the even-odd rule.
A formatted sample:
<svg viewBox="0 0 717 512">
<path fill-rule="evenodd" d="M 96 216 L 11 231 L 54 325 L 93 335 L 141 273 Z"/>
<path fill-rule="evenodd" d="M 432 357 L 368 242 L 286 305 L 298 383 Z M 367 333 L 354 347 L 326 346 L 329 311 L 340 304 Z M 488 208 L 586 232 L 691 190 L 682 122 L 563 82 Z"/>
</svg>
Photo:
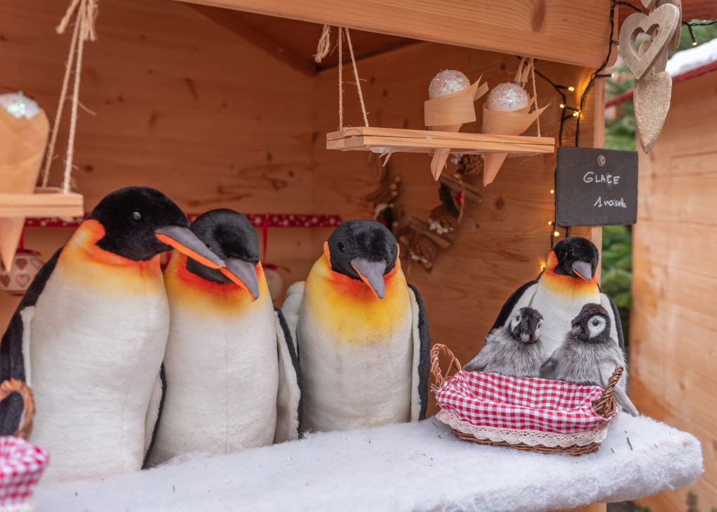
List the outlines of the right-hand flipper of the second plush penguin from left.
<svg viewBox="0 0 717 512">
<path fill-rule="evenodd" d="M 298 351 L 295 348 L 289 325 L 281 309 L 276 306 L 274 306 L 274 314 L 279 356 L 279 390 L 276 398 L 277 417 L 274 443 L 283 443 L 303 437 L 301 378 Z"/>
</svg>

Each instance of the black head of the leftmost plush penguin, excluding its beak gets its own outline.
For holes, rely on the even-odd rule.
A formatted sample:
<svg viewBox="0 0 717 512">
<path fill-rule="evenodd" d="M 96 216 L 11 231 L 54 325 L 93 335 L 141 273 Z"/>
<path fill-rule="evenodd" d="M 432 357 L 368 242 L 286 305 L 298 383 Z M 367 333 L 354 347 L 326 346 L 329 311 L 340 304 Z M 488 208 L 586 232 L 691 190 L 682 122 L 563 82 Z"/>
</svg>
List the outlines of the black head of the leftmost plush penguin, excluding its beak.
<svg viewBox="0 0 717 512">
<path fill-rule="evenodd" d="M 103 198 L 87 216 L 105 229 L 97 245 L 127 259 L 146 261 L 171 248 L 156 237 L 166 226 L 186 228 L 189 221 L 174 201 L 159 190 L 126 187 Z"/>
</svg>

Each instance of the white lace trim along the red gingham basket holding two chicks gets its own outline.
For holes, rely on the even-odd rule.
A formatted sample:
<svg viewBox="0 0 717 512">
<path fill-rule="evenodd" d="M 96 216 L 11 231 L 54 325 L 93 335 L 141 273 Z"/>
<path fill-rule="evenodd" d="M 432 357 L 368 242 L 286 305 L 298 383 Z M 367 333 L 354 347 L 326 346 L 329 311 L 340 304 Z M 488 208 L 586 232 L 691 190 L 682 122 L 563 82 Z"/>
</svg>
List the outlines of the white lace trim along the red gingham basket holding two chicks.
<svg viewBox="0 0 717 512">
<path fill-rule="evenodd" d="M 585 446 L 590 443 L 600 443 L 607 435 L 609 422 L 602 423 L 593 430 L 579 432 L 575 434 L 558 434 L 553 432 L 541 432 L 541 430 L 514 429 L 514 428 L 495 428 L 495 427 L 479 427 L 472 425 L 467 421 L 461 420 L 452 412 L 441 409 L 436 415 L 436 419 L 449 425 L 455 430 L 460 430 L 465 434 L 475 435 L 475 438 L 481 440 L 491 440 L 494 443 L 505 441 L 511 445 L 525 443 L 528 446 L 560 446 L 568 448 L 569 446 L 578 445 Z"/>
</svg>

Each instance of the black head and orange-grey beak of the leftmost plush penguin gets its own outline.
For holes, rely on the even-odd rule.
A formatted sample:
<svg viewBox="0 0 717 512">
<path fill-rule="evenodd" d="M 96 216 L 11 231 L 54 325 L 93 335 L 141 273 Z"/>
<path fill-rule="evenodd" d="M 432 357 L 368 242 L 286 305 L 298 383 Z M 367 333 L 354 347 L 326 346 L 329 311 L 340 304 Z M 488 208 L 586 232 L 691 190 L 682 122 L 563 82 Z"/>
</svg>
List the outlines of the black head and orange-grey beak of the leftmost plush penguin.
<svg viewBox="0 0 717 512">
<path fill-rule="evenodd" d="M 216 268 L 222 266 L 222 260 L 189 231 L 189 222 L 179 206 L 154 188 L 115 190 L 87 219 L 98 221 L 105 230 L 98 247 L 124 258 L 146 261 L 174 247 Z"/>
</svg>

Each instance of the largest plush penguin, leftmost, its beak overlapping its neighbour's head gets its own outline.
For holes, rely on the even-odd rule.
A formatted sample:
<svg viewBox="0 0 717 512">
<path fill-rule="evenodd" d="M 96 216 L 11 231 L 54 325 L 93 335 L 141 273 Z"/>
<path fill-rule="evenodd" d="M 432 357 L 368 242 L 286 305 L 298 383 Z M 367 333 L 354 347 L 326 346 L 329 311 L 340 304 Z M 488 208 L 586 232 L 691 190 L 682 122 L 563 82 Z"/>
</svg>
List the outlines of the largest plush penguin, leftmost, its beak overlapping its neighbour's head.
<svg viewBox="0 0 717 512">
<path fill-rule="evenodd" d="M 159 254 L 174 246 L 222 266 L 188 225 L 158 190 L 110 193 L 20 302 L 0 344 L 0 380 L 32 387 L 37 414 L 29 440 L 52 454 L 46 479 L 141 468 L 169 328 Z M 3 402 L 2 433 L 21 415 L 19 400 Z"/>
</svg>

